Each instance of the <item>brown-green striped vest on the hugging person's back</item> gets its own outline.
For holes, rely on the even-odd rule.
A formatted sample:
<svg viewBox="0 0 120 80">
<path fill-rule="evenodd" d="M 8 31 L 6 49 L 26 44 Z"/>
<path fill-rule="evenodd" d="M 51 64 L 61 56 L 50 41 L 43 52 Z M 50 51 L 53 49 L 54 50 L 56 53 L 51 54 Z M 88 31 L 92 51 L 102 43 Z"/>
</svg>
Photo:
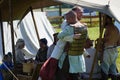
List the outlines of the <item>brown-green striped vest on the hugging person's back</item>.
<svg viewBox="0 0 120 80">
<path fill-rule="evenodd" d="M 80 39 L 74 39 L 72 43 L 70 43 L 70 48 L 68 51 L 69 55 L 76 56 L 83 54 L 84 45 L 87 38 L 87 29 L 86 27 L 75 27 L 75 34 L 81 34 Z"/>
</svg>

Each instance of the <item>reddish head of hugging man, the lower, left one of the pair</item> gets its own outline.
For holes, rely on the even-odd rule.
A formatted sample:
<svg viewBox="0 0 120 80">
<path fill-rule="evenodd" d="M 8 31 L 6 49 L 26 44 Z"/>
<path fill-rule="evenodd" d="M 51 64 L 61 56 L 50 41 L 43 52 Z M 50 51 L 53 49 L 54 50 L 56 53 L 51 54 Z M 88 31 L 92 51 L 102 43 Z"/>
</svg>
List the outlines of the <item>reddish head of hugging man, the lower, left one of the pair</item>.
<svg viewBox="0 0 120 80">
<path fill-rule="evenodd" d="M 77 22 L 77 14 L 74 11 L 69 11 L 65 17 L 68 24 L 75 24 Z"/>
</svg>

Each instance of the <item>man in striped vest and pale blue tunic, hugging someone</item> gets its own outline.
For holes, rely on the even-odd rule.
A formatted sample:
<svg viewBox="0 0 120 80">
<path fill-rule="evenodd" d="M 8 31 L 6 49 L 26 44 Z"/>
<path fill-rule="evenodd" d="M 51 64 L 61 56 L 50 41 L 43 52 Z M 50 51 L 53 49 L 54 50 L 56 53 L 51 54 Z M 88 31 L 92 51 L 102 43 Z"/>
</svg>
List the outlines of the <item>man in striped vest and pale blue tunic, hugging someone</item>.
<svg viewBox="0 0 120 80">
<path fill-rule="evenodd" d="M 68 51 L 63 53 L 59 59 L 59 68 L 63 69 L 62 67 L 64 66 L 65 56 L 68 55 L 69 76 L 67 79 L 78 80 L 79 73 L 86 71 L 83 52 L 87 38 L 87 27 L 79 22 L 82 18 L 83 9 L 76 6 L 72 11 L 77 14 L 77 23 L 72 27 L 66 27 L 60 34 L 58 34 L 59 39 L 68 41 L 70 44 Z M 70 35 L 65 36 L 65 34 Z"/>
</svg>

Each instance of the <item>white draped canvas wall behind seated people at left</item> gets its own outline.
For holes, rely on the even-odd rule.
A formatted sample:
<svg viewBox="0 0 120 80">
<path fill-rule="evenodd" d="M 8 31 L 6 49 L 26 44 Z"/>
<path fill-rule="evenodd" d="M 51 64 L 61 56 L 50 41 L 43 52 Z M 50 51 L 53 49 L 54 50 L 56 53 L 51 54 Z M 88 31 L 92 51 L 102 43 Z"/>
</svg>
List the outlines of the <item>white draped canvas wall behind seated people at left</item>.
<svg viewBox="0 0 120 80">
<path fill-rule="evenodd" d="M 53 42 L 53 34 L 55 33 L 55 30 L 48 21 L 46 13 L 34 11 L 33 14 L 36 21 L 36 26 L 38 29 L 40 39 L 46 38 L 48 40 L 48 46 L 51 45 Z M 18 22 L 19 21 L 13 22 L 14 32 L 15 32 L 14 35 L 15 43 L 19 38 L 24 39 L 26 44 L 25 46 L 26 55 L 27 55 L 26 57 L 27 58 L 35 57 L 37 50 L 39 49 L 39 42 L 37 39 L 31 13 L 29 12 L 22 20 L 22 22 L 17 26 Z M 4 41 L 5 41 L 5 54 L 6 54 L 7 52 L 12 51 L 11 32 L 10 32 L 11 30 L 7 22 L 3 22 L 3 28 L 4 28 Z M 0 35 L 0 43 L 2 43 L 1 41 L 2 39 Z M 0 52 L 1 52 L 0 57 L 2 57 L 2 44 L 0 44 Z"/>
</svg>

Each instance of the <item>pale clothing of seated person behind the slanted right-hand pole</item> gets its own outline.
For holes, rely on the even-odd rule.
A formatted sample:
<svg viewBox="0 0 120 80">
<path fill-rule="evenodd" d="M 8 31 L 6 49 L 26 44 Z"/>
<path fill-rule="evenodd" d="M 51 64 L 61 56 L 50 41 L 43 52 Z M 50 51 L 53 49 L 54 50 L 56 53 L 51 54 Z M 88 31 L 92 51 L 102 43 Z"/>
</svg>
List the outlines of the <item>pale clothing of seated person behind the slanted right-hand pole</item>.
<svg viewBox="0 0 120 80">
<path fill-rule="evenodd" d="M 89 58 L 85 57 L 86 72 L 81 74 L 83 78 L 89 78 L 89 76 L 90 76 L 90 72 L 91 72 L 92 63 L 94 60 L 94 55 L 95 55 L 96 49 L 91 47 L 91 48 L 86 49 L 86 51 L 90 55 L 90 57 Z M 100 66 L 98 64 L 98 58 L 95 62 L 92 78 L 101 78 Z"/>
</svg>

